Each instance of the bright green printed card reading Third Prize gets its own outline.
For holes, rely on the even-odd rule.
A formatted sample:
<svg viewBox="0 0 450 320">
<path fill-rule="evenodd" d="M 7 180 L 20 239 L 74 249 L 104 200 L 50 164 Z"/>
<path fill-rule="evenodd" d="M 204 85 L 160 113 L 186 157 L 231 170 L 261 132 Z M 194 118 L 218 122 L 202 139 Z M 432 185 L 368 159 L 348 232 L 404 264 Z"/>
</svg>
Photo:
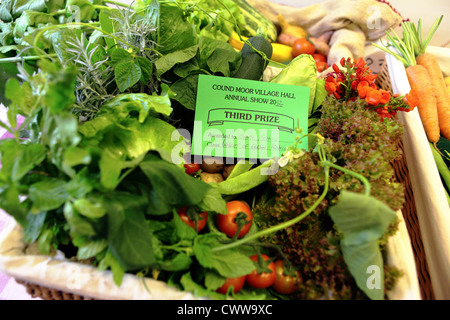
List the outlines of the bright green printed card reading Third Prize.
<svg viewBox="0 0 450 320">
<path fill-rule="evenodd" d="M 191 154 L 266 160 L 308 131 L 308 87 L 200 75 Z M 307 139 L 300 148 L 308 149 Z"/>
</svg>

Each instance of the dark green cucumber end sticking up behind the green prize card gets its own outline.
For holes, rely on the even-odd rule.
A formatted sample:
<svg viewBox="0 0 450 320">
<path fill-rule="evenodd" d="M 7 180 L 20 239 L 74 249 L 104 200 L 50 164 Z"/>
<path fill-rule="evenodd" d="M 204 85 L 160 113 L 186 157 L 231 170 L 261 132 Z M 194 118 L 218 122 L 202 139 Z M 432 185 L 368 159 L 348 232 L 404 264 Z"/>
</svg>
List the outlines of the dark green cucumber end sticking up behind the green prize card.
<svg viewBox="0 0 450 320">
<path fill-rule="evenodd" d="M 248 41 L 256 50 L 263 52 L 267 58 L 270 59 L 272 57 L 272 44 L 265 37 L 254 36 L 249 38 Z M 241 54 L 242 63 L 233 78 L 261 80 L 268 61 L 258 52 L 253 50 L 247 43 L 242 47 Z"/>
</svg>

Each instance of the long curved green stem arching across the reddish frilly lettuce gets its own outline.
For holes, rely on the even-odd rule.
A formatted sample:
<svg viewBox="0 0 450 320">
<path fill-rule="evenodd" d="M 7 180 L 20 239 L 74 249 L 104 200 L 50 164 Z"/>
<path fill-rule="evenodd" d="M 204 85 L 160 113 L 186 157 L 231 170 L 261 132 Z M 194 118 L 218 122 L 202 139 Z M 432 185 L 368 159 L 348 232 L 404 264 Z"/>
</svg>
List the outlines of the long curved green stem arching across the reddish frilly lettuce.
<svg viewBox="0 0 450 320">
<path fill-rule="evenodd" d="M 265 235 L 277 232 L 277 231 L 282 230 L 282 229 L 286 229 L 287 227 L 290 227 L 290 226 L 296 224 L 297 222 L 300 222 L 304 218 L 306 218 L 309 214 L 311 214 L 319 206 L 319 204 L 322 202 L 322 200 L 325 198 L 325 196 L 328 193 L 328 188 L 329 188 L 329 184 L 330 184 L 330 182 L 329 182 L 329 166 L 325 164 L 324 170 L 325 170 L 325 187 L 324 187 L 323 192 L 320 195 L 320 197 L 316 200 L 316 202 L 314 202 L 314 204 L 311 207 L 308 208 L 308 210 L 306 210 L 301 215 L 299 215 L 299 216 L 297 216 L 297 217 L 295 217 L 295 218 L 293 218 L 291 220 L 288 220 L 288 221 L 280 223 L 280 224 L 278 224 L 276 226 L 272 226 L 270 228 L 261 230 L 259 232 L 256 232 L 256 233 L 254 233 L 252 235 L 249 235 L 249 236 L 247 236 L 245 238 L 242 238 L 240 240 L 237 240 L 237 241 L 234 241 L 234 242 L 230 242 L 230 243 L 224 244 L 224 245 L 219 246 L 219 247 L 215 247 L 215 248 L 212 249 L 212 251 L 227 250 L 227 249 L 231 249 L 231 248 L 240 246 L 240 245 L 242 245 L 242 244 L 244 244 L 246 242 L 258 239 L 258 238 L 260 238 L 262 236 L 265 236 Z"/>
</svg>

